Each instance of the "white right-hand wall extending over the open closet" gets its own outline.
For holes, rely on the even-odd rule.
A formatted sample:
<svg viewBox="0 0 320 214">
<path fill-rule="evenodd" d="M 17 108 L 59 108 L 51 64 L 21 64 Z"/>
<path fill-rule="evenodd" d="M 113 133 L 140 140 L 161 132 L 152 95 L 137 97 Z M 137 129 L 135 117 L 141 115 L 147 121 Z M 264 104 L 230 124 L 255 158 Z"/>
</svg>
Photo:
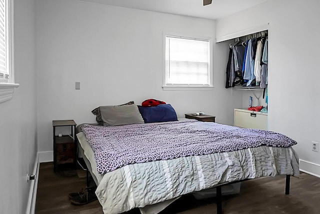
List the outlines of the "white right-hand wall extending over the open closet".
<svg viewBox="0 0 320 214">
<path fill-rule="evenodd" d="M 320 176 L 318 0 L 268 0 L 217 20 L 217 37 L 269 22 L 268 127 L 295 139 L 300 168 Z"/>
</svg>

